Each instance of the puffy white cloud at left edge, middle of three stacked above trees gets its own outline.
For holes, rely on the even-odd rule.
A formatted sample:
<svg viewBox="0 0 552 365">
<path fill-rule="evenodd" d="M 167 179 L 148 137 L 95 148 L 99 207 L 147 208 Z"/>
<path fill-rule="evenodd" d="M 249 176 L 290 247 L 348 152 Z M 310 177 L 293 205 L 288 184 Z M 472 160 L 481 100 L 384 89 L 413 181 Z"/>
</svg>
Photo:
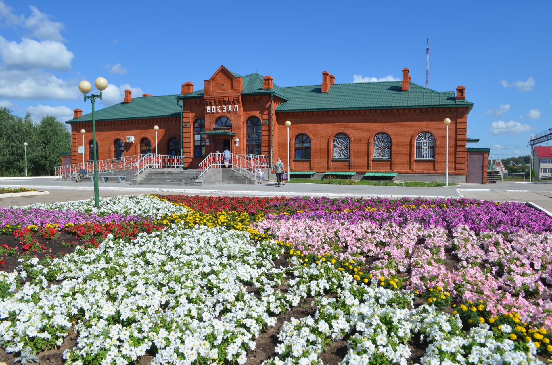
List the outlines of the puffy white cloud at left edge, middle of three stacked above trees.
<svg viewBox="0 0 552 365">
<path fill-rule="evenodd" d="M 23 38 L 21 43 L 9 42 L 0 36 L 0 57 L 8 68 L 46 68 L 67 71 L 71 68 L 73 52 L 57 41 L 35 41 Z"/>
</svg>

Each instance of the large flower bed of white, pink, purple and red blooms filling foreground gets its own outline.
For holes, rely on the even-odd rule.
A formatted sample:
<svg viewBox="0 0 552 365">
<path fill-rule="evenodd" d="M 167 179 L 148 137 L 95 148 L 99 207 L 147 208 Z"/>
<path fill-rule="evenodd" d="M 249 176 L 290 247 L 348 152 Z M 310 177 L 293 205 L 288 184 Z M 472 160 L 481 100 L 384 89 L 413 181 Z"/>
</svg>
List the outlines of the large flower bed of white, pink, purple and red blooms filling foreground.
<svg viewBox="0 0 552 365">
<path fill-rule="evenodd" d="M 347 364 L 552 353 L 552 219 L 517 203 L 140 196 L 0 217 L 20 245 L 91 243 L 0 272 L 0 343 L 17 356 L 73 332 L 67 364 L 310 364 L 332 346 Z M 313 310 L 289 316 L 299 305 Z"/>
</svg>

